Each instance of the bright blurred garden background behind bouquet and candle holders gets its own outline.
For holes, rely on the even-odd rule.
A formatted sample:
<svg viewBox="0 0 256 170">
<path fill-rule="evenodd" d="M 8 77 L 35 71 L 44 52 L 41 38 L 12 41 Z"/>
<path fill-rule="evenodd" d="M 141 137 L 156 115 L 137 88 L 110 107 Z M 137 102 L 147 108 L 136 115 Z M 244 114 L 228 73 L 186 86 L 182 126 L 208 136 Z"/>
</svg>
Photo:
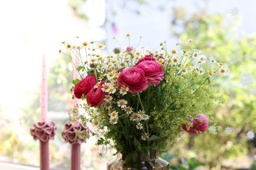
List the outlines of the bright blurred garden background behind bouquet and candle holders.
<svg viewBox="0 0 256 170">
<path fill-rule="evenodd" d="M 10 0 L 0 1 L 0 169 L 39 166 L 39 141 L 30 127 L 39 122 L 42 57 L 47 58 L 49 120 L 58 132 L 51 141 L 51 168 L 70 169 L 70 146 L 60 133 L 72 108 L 73 70 L 60 56 L 62 41 L 75 37 L 123 48 L 129 42 L 156 50 L 193 40 L 200 49 L 230 67 L 215 78 L 226 103 L 207 114 L 221 126 L 217 135 L 184 134 L 162 153 L 173 169 L 256 169 L 256 1 L 249 0 Z M 225 133 L 230 127 L 232 132 Z M 254 137 L 254 135 L 253 135 Z M 106 169 L 113 150 L 96 159 L 94 139 L 82 145 L 82 169 Z M 18 167 L 16 167 L 18 169 Z"/>
</svg>

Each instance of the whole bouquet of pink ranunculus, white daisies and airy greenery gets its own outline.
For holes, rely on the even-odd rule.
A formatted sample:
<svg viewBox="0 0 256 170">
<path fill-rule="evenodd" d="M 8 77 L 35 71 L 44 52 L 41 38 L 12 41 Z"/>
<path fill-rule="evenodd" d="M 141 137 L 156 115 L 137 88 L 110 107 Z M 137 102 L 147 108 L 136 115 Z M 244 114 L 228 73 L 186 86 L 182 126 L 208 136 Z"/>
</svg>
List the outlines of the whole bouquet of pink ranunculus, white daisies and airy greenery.
<svg viewBox="0 0 256 170">
<path fill-rule="evenodd" d="M 166 150 L 185 131 L 203 133 L 210 119 L 205 113 L 223 102 L 211 78 L 228 75 L 228 67 L 200 50 L 188 51 L 181 42 L 172 49 L 161 42 L 154 52 L 130 44 L 111 51 L 93 41 L 62 44 L 66 50 L 61 52 L 81 76 L 73 81 L 72 92 L 84 102 L 72 114 L 80 110 L 79 121 L 97 137 L 96 144 L 113 146 L 127 154 L 126 161 Z"/>
</svg>

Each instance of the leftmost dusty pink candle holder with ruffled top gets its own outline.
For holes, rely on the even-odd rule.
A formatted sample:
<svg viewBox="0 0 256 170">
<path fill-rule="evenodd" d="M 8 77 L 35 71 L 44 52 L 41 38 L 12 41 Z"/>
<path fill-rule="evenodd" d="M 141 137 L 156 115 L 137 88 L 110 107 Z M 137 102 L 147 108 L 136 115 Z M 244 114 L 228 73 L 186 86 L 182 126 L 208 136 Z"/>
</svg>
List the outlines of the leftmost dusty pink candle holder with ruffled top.
<svg viewBox="0 0 256 170">
<path fill-rule="evenodd" d="M 40 141 L 40 169 L 50 169 L 49 140 L 54 139 L 57 127 L 54 122 L 37 122 L 30 128 L 34 140 Z"/>
</svg>

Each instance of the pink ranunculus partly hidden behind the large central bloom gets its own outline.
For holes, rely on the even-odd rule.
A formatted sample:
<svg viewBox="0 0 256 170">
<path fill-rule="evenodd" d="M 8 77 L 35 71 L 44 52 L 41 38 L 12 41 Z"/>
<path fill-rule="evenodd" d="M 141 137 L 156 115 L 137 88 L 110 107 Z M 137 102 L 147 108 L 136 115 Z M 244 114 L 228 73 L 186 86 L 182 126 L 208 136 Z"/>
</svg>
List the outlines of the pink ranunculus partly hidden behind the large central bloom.
<svg viewBox="0 0 256 170">
<path fill-rule="evenodd" d="M 140 62 L 137 67 L 143 69 L 148 82 L 158 85 L 163 80 L 163 68 L 157 61 L 145 60 Z"/>
</svg>

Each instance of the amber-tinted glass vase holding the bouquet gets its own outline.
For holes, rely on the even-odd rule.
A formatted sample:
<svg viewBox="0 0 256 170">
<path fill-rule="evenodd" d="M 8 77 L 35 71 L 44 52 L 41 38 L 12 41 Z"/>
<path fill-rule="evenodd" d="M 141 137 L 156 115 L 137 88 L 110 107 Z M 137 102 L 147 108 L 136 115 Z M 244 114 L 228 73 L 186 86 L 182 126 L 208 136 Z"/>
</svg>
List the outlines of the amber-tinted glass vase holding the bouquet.
<svg viewBox="0 0 256 170">
<path fill-rule="evenodd" d="M 169 163 L 159 157 L 158 151 L 150 152 L 150 156 L 146 154 L 139 154 L 137 161 L 125 163 L 126 156 L 124 154 L 117 154 L 115 160 L 110 161 L 107 164 L 108 170 L 146 170 L 146 169 L 156 169 L 156 170 L 169 170 Z"/>
</svg>

